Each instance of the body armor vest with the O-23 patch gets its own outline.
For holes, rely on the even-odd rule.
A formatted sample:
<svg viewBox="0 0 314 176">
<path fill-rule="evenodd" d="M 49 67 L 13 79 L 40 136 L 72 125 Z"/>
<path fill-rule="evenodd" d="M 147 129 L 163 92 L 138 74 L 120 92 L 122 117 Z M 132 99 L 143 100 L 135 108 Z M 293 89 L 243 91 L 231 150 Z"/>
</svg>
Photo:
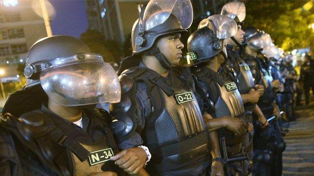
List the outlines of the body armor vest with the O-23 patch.
<svg viewBox="0 0 314 176">
<path fill-rule="evenodd" d="M 243 101 L 235 82 L 226 79 L 211 69 L 201 66 L 193 69 L 197 79 L 205 84 L 208 97 L 213 101 L 214 118 L 222 116 L 238 117 L 248 122 Z M 214 95 L 214 93 L 217 93 Z M 227 146 L 239 144 L 244 135 L 236 136 L 229 130 L 219 130 L 219 135 L 226 138 Z"/>
</svg>

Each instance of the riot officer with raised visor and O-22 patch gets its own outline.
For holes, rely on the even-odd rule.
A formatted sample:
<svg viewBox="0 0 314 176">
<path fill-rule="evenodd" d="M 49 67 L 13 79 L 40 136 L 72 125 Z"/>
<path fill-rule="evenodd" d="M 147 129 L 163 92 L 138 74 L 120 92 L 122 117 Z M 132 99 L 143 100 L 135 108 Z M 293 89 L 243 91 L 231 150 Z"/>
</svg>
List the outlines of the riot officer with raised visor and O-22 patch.
<svg viewBox="0 0 314 176">
<path fill-rule="evenodd" d="M 170 8 L 169 8 L 170 7 Z M 132 29 L 133 55 L 119 73 L 122 100 L 111 104 L 119 145 L 145 144 L 150 175 L 198 176 L 208 167 L 208 132 L 182 57 L 181 33 L 192 23 L 189 0 L 151 0 Z M 140 134 L 143 141 L 133 140 Z"/>
</svg>

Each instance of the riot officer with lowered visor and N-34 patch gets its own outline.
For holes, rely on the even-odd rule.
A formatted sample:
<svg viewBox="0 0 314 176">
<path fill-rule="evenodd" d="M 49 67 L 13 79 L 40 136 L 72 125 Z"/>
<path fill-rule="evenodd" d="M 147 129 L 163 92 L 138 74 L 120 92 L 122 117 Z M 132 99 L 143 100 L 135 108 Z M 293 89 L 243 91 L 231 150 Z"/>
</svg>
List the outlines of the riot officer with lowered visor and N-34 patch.
<svg viewBox="0 0 314 176">
<path fill-rule="evenodd" d="M 118 77 L 101 55 L 70 36 L 43 38 L 30 48 L 24 75 L 26 88 L 8 99 L 0 115 L 1 174 L 124 175 L 112 160 L 125 159 L 135 166 L 125 171 L 145 174 L 145 151 L 119 153 L 111 116 L 94 108 L 121 97 Z M 33 101 L 28 109 L 27 98 Z"/>
</svg>

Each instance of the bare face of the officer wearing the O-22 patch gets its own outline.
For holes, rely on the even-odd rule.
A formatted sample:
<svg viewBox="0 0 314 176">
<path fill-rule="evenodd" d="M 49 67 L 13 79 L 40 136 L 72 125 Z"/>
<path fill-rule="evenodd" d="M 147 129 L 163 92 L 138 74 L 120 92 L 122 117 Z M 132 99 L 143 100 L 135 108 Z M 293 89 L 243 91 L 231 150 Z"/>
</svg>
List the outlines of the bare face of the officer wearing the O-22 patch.
<svg viewBox="0 0 314 176">
<path fill-rule="evenodd" d="M 184 47 L 180 41 L 181 34 L 174 34 L 171 36 L 163 37 L 157 42 L 157 47 L 163 56 L 170 62 L 171 66 L 179 66 L 180 59 L 182 58 L 181 49 Z"/>
</svg>

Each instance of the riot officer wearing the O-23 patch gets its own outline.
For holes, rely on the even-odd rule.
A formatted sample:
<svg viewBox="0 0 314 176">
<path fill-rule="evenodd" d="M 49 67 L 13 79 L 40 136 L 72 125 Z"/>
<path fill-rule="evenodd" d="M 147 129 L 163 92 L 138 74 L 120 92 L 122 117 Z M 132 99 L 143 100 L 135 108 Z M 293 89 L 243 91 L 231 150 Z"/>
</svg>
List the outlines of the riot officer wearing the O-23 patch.
<svg viewBox="0 0 314 176">
<path fill-rule="evenodd" d="M 243 101 L 235 84 L 231 69 L 220 67 L 227 58 L 223 39 L 233 36 L 237 31 L 236 22 L 222 15 L 213 15 L 199 24 L 198 30 L 188 38 L 187 49 L 193 62 L 192 73 L 199 80 L 199 85 L 208 98 L 207 107 L 214 118 L 230 116 L 240 118 L 246 123 L 248 131 L 253 126 L 248 122 Z M 219 73 L 219 74 L 218 74 Z M 226 163 L 227 175 L 248 175 L 248 168 L 242 161 L 247 162 L 242 142 L 245 134 L 235 135 L 227 129 L 218 130 L 221 146 L 226 142 L 227 151 L 223 148 L 223 156 L 242 156 L 242 159 Z M 226 152 L 226 153 L 225 153 Z M 217 158 L 213 158 L 217 159 Z M 225 158 L 226 159 L 226 158 Z M 246 164 L 248 166 L 248 164 Z"/>
</svg>

